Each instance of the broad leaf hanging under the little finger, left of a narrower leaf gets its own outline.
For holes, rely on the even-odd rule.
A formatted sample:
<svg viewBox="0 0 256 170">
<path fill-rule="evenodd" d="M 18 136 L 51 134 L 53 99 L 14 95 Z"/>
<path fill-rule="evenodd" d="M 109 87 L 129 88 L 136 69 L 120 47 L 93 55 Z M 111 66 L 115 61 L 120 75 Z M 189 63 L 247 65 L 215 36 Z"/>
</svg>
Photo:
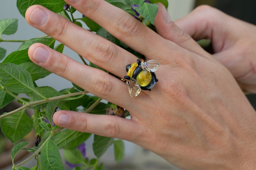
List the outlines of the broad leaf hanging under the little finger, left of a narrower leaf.
<svg viewBox="0 0 256 170">
<path fill-rule="evenodd" d="M 113 138 L 94 134 L 93 151 L 97 158 L 100 158 L 113 143 Z"/>
</svg>

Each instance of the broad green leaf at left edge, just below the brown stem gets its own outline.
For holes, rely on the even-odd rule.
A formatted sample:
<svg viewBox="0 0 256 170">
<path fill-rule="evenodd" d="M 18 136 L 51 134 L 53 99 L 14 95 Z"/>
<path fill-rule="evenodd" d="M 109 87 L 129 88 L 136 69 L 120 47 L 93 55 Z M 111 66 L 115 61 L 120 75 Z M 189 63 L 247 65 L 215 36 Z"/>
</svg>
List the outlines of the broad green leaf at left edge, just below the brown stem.
<svg viewBox="0 0 256 170">
<path fill-rule="evenodd" d="M 4 117 L 0 122 L 3 134 L 12 143 L 24 138 L 33 128 L 33 121 L 26 115 L 24 110 Z"/>
</svg>

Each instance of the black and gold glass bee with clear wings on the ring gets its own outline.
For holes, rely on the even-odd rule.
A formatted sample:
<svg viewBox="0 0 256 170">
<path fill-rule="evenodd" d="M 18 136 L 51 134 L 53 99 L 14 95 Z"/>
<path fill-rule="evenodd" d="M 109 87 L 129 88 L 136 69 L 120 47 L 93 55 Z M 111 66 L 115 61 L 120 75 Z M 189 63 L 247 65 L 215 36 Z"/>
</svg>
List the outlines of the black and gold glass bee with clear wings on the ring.
<svg viewBox="0 0 256 170">
<path fill-rule="evenodd" d="M 126 66 L 127 76 L 124 78 L 129 80 L 129 93 L 132 97 L 140 94 L 141 89 L 151 91 L 158 81 L 154 71 L 159 65 L 157 60 L 148 60 L 142 63 L 141 60 L 137 59 L 137 63 Z"/>
</svg>

